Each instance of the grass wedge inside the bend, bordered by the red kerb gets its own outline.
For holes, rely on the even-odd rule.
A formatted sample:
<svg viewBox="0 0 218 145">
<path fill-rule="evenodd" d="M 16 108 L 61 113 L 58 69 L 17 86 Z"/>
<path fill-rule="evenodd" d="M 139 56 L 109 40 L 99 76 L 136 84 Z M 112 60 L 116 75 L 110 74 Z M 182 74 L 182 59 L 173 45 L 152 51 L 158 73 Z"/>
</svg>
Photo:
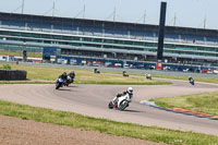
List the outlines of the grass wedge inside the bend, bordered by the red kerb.
<svg viewBox="0 0 218 145">
<path fill-rule="evenodd" d="M 164 108 L 183 108 L 218 116 L 218 92 L 152 99 Z"/>
</svg>

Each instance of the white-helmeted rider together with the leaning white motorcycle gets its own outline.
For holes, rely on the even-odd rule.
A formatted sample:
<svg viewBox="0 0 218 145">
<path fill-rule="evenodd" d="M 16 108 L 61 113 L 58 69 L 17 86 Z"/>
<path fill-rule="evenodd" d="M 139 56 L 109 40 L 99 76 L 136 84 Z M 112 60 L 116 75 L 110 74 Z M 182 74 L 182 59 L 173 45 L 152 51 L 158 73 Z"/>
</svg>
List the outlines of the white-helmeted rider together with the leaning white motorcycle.
<svg viewBox="0 0 218 145">
<path fill-rule="evenodd" d="M 129 87 L 123 94 L 118 94 L 108 105 L 109 109 L 124 110 L 133 98 L 133 88 Z"/>
</svg>

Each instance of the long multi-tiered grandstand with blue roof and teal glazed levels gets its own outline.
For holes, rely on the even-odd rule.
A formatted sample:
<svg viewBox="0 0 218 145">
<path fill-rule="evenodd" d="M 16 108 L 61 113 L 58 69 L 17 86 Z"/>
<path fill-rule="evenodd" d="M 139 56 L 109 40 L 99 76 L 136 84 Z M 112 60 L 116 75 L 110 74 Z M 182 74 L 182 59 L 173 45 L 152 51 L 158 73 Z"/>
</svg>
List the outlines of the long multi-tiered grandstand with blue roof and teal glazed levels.
<svg viewBox="0 0 218 145">
<path fill-rule="evenodd" d="M 156 62 L 157 43 L 158 25 L 0 12 L 0 50 Z M 166 26 L 164 62 L 218 67 L 218 31 Z"/>
</svg>

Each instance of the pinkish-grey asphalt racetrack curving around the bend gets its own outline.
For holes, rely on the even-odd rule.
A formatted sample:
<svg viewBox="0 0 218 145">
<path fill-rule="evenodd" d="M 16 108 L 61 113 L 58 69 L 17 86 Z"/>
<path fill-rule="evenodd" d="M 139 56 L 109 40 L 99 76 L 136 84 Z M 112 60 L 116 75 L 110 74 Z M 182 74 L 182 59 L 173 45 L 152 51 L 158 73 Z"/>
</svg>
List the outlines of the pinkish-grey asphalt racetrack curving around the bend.
<svg viewBox="0 0 218 145">
<path fill-rule="evenodd" d="M 0 85 L 0 99 L 34 107 L 72 111 L 90 117 L 105 118 L 121 122 L 155 125 L 181 131 L 193 131 L 218 135 L 218 120 L 174 113 L 141 105 L 141 100 L 155 97 L 181 96 L 218 90 L 218 85 L 185 81 L 172 81 L 172 85 L 132 86 L 133 102 L 125 111 L 108 109 L 108 102 L 117 93 L 128 88 L 124 85 L 78 85 L 55 89 L 55 85 Z"/>
</svg>

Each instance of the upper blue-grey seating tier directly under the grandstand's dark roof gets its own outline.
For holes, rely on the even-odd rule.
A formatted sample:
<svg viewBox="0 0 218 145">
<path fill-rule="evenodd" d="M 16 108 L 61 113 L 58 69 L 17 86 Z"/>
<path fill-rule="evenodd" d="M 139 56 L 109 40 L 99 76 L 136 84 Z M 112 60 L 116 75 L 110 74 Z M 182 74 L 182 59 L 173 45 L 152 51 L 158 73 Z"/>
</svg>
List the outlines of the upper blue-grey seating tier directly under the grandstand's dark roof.
<svg viewBox="0 0 218 145">
<path fill-rule="evenodd" d="M 73 25 L 59 25 L 48 23 L 36 23 L 13 20 L 4 20 L 1 22 L 2 28 L 21 29 L 21 31 L 36 31 L 46 33 L 63 33 L 74 35 L 88 35 L 88 36 L 104 36 L 116 38 L 131 38 L 138 40 L 155 40 L 157 41 L 158 34 L 154 32 L 140 32 L 140 31 L 126 31 L 126 29 L 112 29 L 112 28 L 99 28 L 88 26 L 73 26 Z M 197 45 L 211 45 L 217 46 L 218 39 L 216 37 L 201 37 L 194 35 L 177 35 L 172 33 L 166 33 L 165 40 L 169 43 L 182 43 L 182 44 L 197 44 Z"/>
</svg>

